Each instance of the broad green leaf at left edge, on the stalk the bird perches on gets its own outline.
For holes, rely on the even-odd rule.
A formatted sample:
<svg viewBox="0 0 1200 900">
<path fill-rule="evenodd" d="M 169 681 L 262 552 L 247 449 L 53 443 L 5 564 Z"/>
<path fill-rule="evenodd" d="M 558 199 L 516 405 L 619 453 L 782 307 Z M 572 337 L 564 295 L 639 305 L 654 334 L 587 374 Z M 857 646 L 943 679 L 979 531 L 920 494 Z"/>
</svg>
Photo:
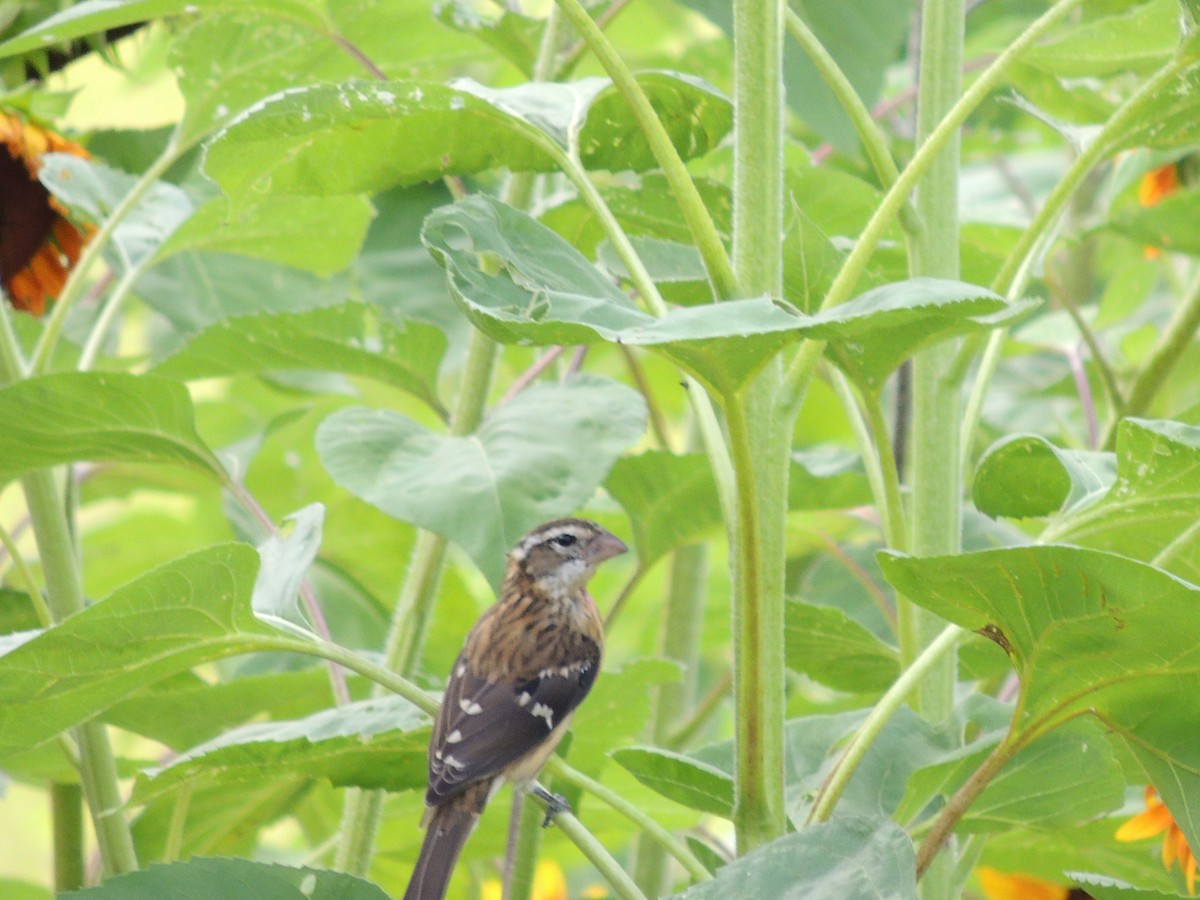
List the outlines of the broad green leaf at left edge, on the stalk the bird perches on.
<svg viewBox="0 0 1200 900">
<path fill-rule="evenodd" d="M 49 740 L 154 682 L 276 636 L 254 618 L 242 544 L 168 563 L 0 656 L 0 757 Z"/>
</svg>

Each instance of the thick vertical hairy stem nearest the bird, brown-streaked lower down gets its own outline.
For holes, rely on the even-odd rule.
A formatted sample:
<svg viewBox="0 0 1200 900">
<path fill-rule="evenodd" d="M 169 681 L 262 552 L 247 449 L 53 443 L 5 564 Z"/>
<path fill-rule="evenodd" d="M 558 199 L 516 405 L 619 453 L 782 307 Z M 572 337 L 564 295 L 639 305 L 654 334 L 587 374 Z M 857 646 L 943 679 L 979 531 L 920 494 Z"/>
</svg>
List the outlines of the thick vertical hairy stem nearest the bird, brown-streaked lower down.
<svg viewBox="0 0 1200 900">
<path fill-rule="evenodd" d="M 733 4 L 733 265 L 750 295 L 781 296 L 784 233 L 782 0 Z M 733 570 L 734 793 L 738 852 L 784 834 L 784 569 L 794 418 L 778 406 L 782 367 L 767 364 L 725 397 L 737 485 L 727 522 Z"/>
</svg>

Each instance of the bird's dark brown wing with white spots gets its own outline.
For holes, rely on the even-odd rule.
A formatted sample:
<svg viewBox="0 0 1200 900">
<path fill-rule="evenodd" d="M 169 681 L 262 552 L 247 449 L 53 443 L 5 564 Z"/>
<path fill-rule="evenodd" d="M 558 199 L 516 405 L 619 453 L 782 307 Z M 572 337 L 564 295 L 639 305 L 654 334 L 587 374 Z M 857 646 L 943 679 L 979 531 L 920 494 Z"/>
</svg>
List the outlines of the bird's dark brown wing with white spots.
<svg viewBox="0 0 1200 900">
<path fill-rule="evenodd" d="M 600 648 L 569 666 L 545 668 L 518 684 L 488 682 L 460 655 L 430 742 L 428 804 L 503 772 L 535 750 L 570 715 L 596 679 Z"/>
</svg>

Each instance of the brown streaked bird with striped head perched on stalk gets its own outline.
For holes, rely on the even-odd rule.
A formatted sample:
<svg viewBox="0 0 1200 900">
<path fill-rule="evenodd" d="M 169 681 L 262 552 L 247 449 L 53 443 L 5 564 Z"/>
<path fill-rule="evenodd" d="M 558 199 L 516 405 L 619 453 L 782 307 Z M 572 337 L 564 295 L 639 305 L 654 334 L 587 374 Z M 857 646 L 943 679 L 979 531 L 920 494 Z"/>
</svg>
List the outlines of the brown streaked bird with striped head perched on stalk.
<svg viewBox="0 0 1200 900">
<path fill-rule="evenodd" d="M 404 900 L 445 896 L 491 794 L 504 781 L 529 788 L 563 739 L 604 650 L 588 580 L 626 550 L 595 522 L 557 518 L 509 553 L 499 596 L 468 632 L 433 725 L 426 832 Z M 532 790 L 552 811 L 565 806 Z"/>
</svg>

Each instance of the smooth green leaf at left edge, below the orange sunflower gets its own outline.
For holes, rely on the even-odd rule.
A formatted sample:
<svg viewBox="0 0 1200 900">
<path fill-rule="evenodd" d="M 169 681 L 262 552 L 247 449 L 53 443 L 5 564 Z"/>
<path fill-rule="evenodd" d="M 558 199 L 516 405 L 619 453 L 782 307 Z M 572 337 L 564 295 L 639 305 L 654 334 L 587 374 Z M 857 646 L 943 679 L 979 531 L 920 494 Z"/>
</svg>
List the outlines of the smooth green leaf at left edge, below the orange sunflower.
<svg viewBox="0 0 1200 900">
<path fill-rule="evenodd" d="M 64 373 L 0 388 L 0 482 L 68 462 L 172 462 L 224 476 L 179 382 Z"/>
</svg>

